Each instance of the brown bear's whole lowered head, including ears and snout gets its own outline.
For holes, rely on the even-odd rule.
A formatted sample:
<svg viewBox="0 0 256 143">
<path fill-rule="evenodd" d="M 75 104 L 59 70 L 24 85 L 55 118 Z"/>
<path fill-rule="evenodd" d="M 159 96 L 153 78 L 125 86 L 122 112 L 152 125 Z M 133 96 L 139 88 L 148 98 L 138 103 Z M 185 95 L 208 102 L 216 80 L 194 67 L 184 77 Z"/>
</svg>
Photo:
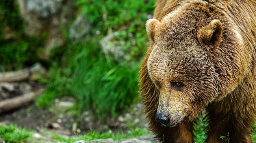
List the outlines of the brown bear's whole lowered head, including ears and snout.
<svg viewBox="0 0 256 143">
<path fill-rule="evenodd" d="M 146 30 L 152 48 L 147 69 L 160 91 L 157 121 L 169 127 L 183 119 L 193 121 L 210 102 L 219 98 L 225 87 L 223 84 L 236 80 L 236 75 L 230 70 L 233 67 L 224 64 L 230 60 L 228 54 L 234 56 L 236 51 L 228 54 L 221 51 L 223 44 L 235 45 L 234 40 L 227 38 L 228 35 L 236 37 L 236 31 L 229 30 L 228 25 L 224 27 L 225 20 L 216 7 L 191 3 L 161 20 L 147 21 Z M 228 60 L 222 64 L 218 59 L 223 54 Z M 234 58 L 231 60 L 236 62 Z M 228 80 L 222 81 L 222 78 Z M 225 87 L 225 90 L 231 91 L 232 86 Z"/>
</svg>

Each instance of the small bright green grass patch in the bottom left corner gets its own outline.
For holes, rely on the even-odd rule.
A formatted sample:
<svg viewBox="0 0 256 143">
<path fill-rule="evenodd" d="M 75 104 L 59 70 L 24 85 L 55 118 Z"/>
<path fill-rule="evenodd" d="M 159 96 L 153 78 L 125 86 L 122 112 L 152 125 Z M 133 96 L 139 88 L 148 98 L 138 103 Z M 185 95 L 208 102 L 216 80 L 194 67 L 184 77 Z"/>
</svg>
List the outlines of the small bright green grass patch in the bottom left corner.
<svg viewBox="0 0 256 143">
<path fill-rule="evenodd" d="M 28 141 L 32 135 L 26 129 L 21 129 L 16 125 L 0 125 L 0 138 L 7 143 L 24 143 Z"/>
</svg>

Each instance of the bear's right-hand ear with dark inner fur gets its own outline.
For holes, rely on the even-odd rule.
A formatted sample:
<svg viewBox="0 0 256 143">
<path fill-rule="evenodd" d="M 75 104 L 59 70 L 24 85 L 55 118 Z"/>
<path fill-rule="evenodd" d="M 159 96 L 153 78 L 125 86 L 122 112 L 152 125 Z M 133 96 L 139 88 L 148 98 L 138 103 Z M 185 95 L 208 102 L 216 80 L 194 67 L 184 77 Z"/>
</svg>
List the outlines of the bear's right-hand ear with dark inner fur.
<svg viewBox="0 0 256 143">
<path fill-rule="evenodd" d="M 222 24 L 219 20 L 211 20 L 210 24 L 197 31 L 197 40 L 200 44 L 214 45 L 222 37 Z"/>
</svg>

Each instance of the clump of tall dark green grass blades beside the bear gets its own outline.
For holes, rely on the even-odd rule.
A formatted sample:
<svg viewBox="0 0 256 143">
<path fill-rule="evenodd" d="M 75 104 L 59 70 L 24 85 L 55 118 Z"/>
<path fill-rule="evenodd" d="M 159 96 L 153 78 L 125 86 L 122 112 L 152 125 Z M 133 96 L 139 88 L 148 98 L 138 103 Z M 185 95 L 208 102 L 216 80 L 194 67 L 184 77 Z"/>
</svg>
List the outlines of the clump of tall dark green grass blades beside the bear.
<svg viewBox="0 0 256 143">
<path fill-rule="evenodd" d="M 70 89 L 79 101 L 80 111 L 92 109 L 96 117 L 103 120 L 109 115 L 115 117 L 137 98 L 138 66 L 116 65 L 111 59 L 108 63 L 101 53 L 91 57 L 93 51 L 88 49 L 93 48 L 87 45 L 74 58 L 77 66 Z"/>
</svg>

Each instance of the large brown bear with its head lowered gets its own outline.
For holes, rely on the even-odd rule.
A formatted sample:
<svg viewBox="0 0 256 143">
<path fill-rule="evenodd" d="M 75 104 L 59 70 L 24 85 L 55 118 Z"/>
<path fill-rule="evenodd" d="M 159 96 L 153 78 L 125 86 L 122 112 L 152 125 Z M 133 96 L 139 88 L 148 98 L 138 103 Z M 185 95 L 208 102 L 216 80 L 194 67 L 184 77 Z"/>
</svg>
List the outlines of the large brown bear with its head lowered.
<svg viewBox="0 0 256 143">
<path fill-rule="evenodd" d="M 148 127 L 164 143 L 252 143 L 256 113 L 256 0 L 157 0 L 139 72 Z"/>
</svg>

